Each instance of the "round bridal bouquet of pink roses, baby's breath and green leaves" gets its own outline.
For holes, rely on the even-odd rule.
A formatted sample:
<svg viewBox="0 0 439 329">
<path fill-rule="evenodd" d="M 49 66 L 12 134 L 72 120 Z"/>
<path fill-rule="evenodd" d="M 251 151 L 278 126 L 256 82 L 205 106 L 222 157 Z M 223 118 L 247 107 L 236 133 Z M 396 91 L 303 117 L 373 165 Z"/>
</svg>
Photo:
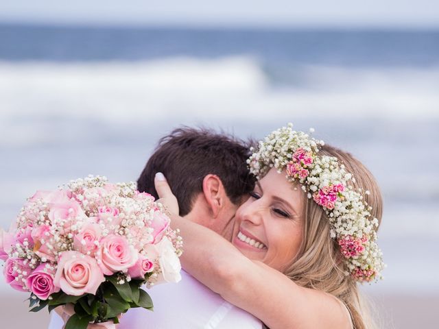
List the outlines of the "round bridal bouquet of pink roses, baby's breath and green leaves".
<svg viewBox="0 0 439 329">
<path fill-rule="evenodd" d="M 5 280 L 30 293 L 31 311 L 69 308 L 66 329 L 117 324 L 129 308 L 152 309 L 141 285 L 178 282 L 181 248 L 154 197 L 99 176 L 36 192 L 10 232 L 0 229 Z"/>
</svg>

